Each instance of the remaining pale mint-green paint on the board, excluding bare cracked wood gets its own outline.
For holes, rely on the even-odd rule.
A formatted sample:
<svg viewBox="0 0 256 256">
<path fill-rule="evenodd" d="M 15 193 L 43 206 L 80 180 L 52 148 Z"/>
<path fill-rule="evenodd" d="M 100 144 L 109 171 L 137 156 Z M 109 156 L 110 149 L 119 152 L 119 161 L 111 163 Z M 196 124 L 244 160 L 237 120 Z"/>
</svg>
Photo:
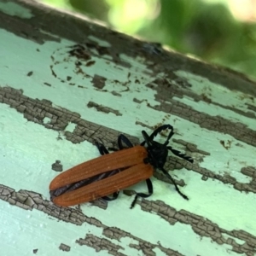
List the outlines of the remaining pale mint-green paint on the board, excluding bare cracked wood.
<svg viewBox="0 0 256 256">
<path fill-rule="evenodd" d="M 13 6 L 9 6 L 9 4 L 1 2 L 0 11 L 12 15 L 11 10 L 15 8 L 15 15 L 19 18 L 29 19 L 33 16 L 30 9 L 26 9 L 24 6 L 21 8 L 18 3 L 12 3 L 15 4 Z M 103 38 L 87 36 L 102 46 L 111 47 L 111 44 L 104 41 Z M 23 90 L 23 96 L 31 99 L 46 99 L 53 102 L 55 108 L 67 108 L 72 112 L 79 113 L 81 119 L 125 132 L 140 140 L 142 140 L 141 131 L 147 130 L 147 128 L 137 125 L 137 122 L 154 126 L 162 123 L 162 120 L 165 119 L 165 123 L 173 124 L 175 127 L 176 134 L 173 138 L 194 143 L 198 149 L 210 153 L 210 155 L 202 155 L 192 152 L 195 165 L 207 168 L 216 174 L 229 173 L 241 183 L 249 182 L 248 177 L 242 175 L 240 170 L 245 166 L 256 166 L 256 148 L 253 145 L 243 143 L 223 132 L 201 128 L 200 125 L 177 115 L 166 115 L 165 112 L 148 108 L 147 103 L 151 106 L 160 103 L 155 100 L 156 91 L 143 86 L 155 79 L 150 75 L 148 63 L 146 64 L 147 60 L 143 60 L 139 56 L 131 58 L 125 52 L 120 53 L 121 59 L 131 64 L 131 67 L 128 68 L 115 64 L 110 59 L 94 56 L 93 61 L 96 61 L 96 64 L 83 67 L 89 75 L 88 78 L 84 78 L 82 75 L 75 76 L 73 73 L 75 59 L 70 58 L 65 62 L 67 47 L 77 42 L 60 38 L 60 42 L 49 41 L 37 44 L 4 29 L 0 29 L 0 39 L 1 89 L 9 86 L 12 89 Z M 49 68 L 53 65 L 53 58 L 56 63 L 53 67 L 56 77 L 52 75 Z M 32 75 L 27 76 L 30 71 L 33 72 Z M 128 73 L 131 73 L 131 84 L 129 84 L 129 90 L 125 91 L 125 87 L 115 83 L 114 80 L 125 83 Z M 255 107 L 252 96 L 241 91 L 229 90 L 222 84 L 213 84 L 207 77 L 189 73 L 182 67 L 175 73 L 177 77 L 187 80 L 192 85 L 190 90 L 196 95 L 201 96 L 204 93 L 212 101 L 195 102 L 189 97 L 176 97 L 177 102 L 182 102 L 210 116 L 220 115 L 224 119 L 239 121 L 255 131 L 255 119 L 213 104 L 213 102 L 221 102 L 222 106 L 247 111 L 247 104 Z M 95 86 L 91 84 L 91 77 L 95 74 L 107 78 L 105 91 L 96 90 Z M 158 77 L 162 79 L 166 75 L 166 73 L 159 73 Z M 67 82 L 61 82 L 61 79 L 66 80 L 67 76 L 73 78 L 74 86 L 67 85 Z M 141 84 L 136 83 L 138 77 Z M 45 83 L 51 84 L 51 86 Z M 82 85 L 84 88 L 79 88 L 78 85 Z M 113 91 L 120 96 L 113 94 Z M 147 102 L 137 103 L 134 99 L 147 100 Z M 97 112 L 96 108 L 87 107 L 88 102 L 100 102 L 102 106 L 118 110 L 121 115 Z M 44 122 L 47 121 L 44 119 Z M 72 132 L 74 126 L 70 124 L 65 131 Z M 57 139 L 57 137 L 62 139 Z M 160 140 L 164 140 L 164 138 L 160 138 Z M 231 141 L 229 150 L 219 143 L 222 140 L 224 142 Z M 237 143 L 241 146 L 235 146 Z M 55 160 L 61 160 L 63 169 L 66 170 L 99 155 L 92 143 L 85 141 L 71 143 L 67 141 L 63 132 L 59 133 L 46 129 L 44 125 L 27 121 L 22 113 L 4 103 L 0 103 L 0 145 L 0 184 L 15 189 L 16 192 L 20 189 L 33 191 L 41 194 L 46 201 L 49 201 L 49 182 L 56 175 L 56 172 L 51 170 L 51 165 Z M 184 150 L 178 143 L 172 143 L 172 145 Z M 203 161 L 200 162 L 200 158 Z M 166 205 L 177 211 L 185 210 L 207 218 L 224 230 L 244 230 L 252 236 L 256 235 L 254 220 L 256 195 L 254 193 L 241 193 L 233 189 L 230 184 L 210 178 L 207 182 L 203 181 L 201 174 L 188 172 L 185 168 L 175 170 L 173 175 L 185 181 L 186 186 L 182 190 L 183 193 L 189 195 L 190 200 L 183 201 L 174 191 L 172 185 L 153 178 L 154 195 L 148 199 L 149 201 L 164 201 Z M 137 185 L 135 188 L 141 190 L 144 186 Z M 117 227 L 131 233 L 131 236 L 141 238 L 155 246 L 160 242 L 162 247 L 171 248 L 183 255 L 237 255 L 231 251 L 230 245 L 219 245 L 211 238 L 197 235 L 189 224 L 177 222 L 171 225 L 157 214 L 142 211 L 139 205 L 132 211 L 129 210 L 131 201 L 132 198 L 121 194 L 119 200 L 108 203 L 107 210 L 93 207 L 87 203 L 81 206 L 81 211 L 88 218 L 95 218 L 103 225 Z M 138 241 L 132 237 L 125 236 L 119 241 L 113 240 L 103 233 L 104 229 L 101 226 L 97 227 L 96 224 L 85 222 L 82 225 L 75 225 L 63 222 L 49 217 L 45 212 L 36 209 L 25 210 L 22 207 L 12 206 L 4 200 L 0 200 L 0 219 L 1 255 L 9 256 L 17 255 L 17 253 L 31 255 L 33 249 L 38 249 L 36 255 L 67 255 L 67 252 L 58 248 L 61 243 L 71 247 L 68 255 L 109 254 L 104 249 L 96 253 L 96 250 L 90 246 L 80 246 L 76 241 L 84 238 L 86 234 L 93 234 L 120 246 L 119 253 L 143 255 L 142 250 L 138 251 L 131 247 L 131 243 L 138 245 Z M 222 236 L 226 239 L 229 237 L 226 234 Z M 230 236 L 230 238 L 238 244 L 244 243 L 234 236 Z M 254 252 L 256 252 L 255 243 L 253 246 Z M 156 255 L 168 254 L 162 252 L 160 247 L 155 247 L 153 252 Z"/>
</svg>

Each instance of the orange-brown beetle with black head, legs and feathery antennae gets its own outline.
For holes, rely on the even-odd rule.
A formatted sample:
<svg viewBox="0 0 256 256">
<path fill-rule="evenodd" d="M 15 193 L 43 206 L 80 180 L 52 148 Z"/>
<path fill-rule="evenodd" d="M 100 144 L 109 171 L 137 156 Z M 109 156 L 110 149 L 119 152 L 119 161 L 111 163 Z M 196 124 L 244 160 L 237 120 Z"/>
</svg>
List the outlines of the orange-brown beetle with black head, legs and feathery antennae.
<svg viewBox="0 0 256 256">
<path fill-rule="evenodd" d="M 154 137 L 166 129 L 170 130 L 166 142 L 163 144 L 155 142 Z M 125 135 L 120 134 L 119 150 L 112 148 L 114 152 L 111 154 L 102 143 L 96 142 L 96 147 L 102 156 L 74 166 L 56 176 L 49 184 L 51 200 L 61 207 L 70 207 L 99 198 L 112 201 L 117 199 L 120 190 L 145 180 L 148 194 L 136 193 L 131 203 L 132 208 L 138 197 L 146 198 L 153 194 L 153 184 L 149 177 L 153 176 L 154 169 L 160 169 L 172 181 L 177 193 L 185 200 L 189 200 L 164 169 L 169 150 L 183 160 L 193 163 L 190 156 L 168 145 L 174 134 L 172 125 L 161 125 L 150 136 L 146 131 L 142 133 L 144 141 L 137 146 L 133 146 Z"/>
</svg>

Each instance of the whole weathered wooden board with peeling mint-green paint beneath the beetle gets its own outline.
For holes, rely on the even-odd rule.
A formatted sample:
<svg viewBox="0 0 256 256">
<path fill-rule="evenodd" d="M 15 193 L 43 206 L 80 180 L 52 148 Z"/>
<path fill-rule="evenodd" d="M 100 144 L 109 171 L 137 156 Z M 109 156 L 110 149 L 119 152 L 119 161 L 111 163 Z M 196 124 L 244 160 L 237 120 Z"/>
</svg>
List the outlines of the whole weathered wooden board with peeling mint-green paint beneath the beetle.
<svg viewBox="0 0 256 256">
<path fill-rule="evenodd" d="M 254 82 L 30 1 L 0 1 L 0 46 L 2 255 L 256 253 Z M 160 124 L 195 159 L 166 163 L 189 201 L 158 173 L 133 210 L 49 201 L 53 169 L 98 156 L 96 139 Z"/>
</svg>

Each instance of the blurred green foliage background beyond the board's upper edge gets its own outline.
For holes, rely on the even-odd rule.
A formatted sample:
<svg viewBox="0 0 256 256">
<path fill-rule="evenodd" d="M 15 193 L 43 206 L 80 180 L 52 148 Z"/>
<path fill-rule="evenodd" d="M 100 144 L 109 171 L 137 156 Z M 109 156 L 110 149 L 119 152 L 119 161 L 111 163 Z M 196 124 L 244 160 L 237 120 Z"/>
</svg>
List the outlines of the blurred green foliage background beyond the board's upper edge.
<svg viewBox="0 0 256 256">
<path fill-rule="evenodd" d="M 256 0 L 41 0 L 256 80 Z"/>
</svg>

